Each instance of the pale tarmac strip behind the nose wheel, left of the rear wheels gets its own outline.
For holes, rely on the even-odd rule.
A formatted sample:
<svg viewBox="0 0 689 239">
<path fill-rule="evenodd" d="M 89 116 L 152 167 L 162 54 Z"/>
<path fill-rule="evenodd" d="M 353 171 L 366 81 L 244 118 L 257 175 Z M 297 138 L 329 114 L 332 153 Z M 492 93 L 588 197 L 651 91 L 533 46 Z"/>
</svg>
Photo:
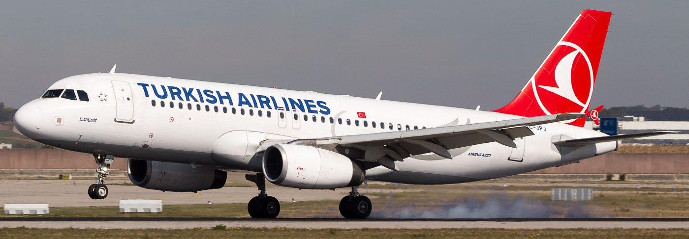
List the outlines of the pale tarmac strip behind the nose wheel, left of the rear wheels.
<svg viewBox="0 0 689 239">
<path fill-rule="evenodd" d="M 48 203 L 50 207 L 118 206 L 120 199 L 161 199 L 163 205 L 247 203 L 258 195 L 256 187 L 223 187 L 194 192 L 161 192 L 129 185 L 107 185 L 124 181 L 107 181 L 107 198 L 93 200 L 86 191 L 94 181 L 88 180 L 0 180 L 0 205 L 6 203 Z M 340 200 L 349 190 L 298 190 L 290 187 L 269 187 L 268 194 L 279 201 Z M 387 191 L 386 191 L 387 192 Z"/>
</svg>

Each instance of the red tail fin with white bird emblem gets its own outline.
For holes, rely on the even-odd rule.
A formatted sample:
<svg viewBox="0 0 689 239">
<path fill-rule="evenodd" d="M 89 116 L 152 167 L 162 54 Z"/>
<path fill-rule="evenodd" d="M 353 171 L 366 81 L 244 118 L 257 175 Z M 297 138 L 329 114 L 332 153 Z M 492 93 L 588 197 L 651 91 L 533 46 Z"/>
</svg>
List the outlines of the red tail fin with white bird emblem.
<svg viewBox="0 0 689 239">
<path fill-rule="evenodd" d="M 610 12 L 584 10 L 538 67 L 524 89 L 495 112 L 533 117 L 585 113 L 591 101 Z M 584 126 L 586 118 L 570 122 Z"/>
</svg>

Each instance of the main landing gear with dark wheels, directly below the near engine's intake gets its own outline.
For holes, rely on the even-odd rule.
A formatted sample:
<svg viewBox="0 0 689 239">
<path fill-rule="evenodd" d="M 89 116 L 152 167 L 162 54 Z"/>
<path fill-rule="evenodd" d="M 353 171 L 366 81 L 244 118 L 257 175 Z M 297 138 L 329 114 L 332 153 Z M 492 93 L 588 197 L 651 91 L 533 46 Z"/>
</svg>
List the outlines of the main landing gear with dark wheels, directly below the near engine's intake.
<svg viewBox="0 0 689 239">
<path fill-rule="evenodd" d="M 268 196 L 265 192 L 265 177 L 263 173 L 246 174 L 245 178 L 256 183 L 260 192 L 249 200 L 247 209 L 252 218 L 276 218 L 280 214 L 280 202 L 277 198 Z"/>
</svg>

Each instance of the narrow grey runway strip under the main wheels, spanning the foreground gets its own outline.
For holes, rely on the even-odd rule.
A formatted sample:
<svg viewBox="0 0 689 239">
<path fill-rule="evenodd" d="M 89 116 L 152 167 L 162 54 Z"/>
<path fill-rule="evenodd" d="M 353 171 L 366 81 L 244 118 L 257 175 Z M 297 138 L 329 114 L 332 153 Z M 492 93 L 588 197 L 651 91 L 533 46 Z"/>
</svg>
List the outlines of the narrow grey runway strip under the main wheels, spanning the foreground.
<svg viewBox="0 0 689 239">
<path fill-rule="evenodd" d="M 267 227 L 304 229 L 688 229 L 689 218 L 528 218 L 457 220 L 349 220 L 344 218 L 0 218 L 0 227 L 96 228 L 96 229 L 189 229 L 197 227 Z"/>
</svg>

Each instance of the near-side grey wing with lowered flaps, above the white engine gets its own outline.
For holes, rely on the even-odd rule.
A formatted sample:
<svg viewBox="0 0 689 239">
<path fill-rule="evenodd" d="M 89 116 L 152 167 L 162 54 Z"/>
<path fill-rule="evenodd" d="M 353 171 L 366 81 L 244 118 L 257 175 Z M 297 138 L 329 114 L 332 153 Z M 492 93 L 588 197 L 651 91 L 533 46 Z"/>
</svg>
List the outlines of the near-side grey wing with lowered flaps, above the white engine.
<svg viewBox="0 0 689 239">
<path fill-rule="evenodd" d="M 349 157 L 377 162 L 386 168 L 398 171 L 394 161 L 403 161 L 411 155 L 433 152 L 441 157 L 452 159 L 450 149 L 489 142 L 517 148 L 513 141 L 515 138 L 533 135 L 531 129 L 526 126 L 575 120 L 580 117 L 586 117 L 586 115 L 583 113 L 561 113 L 418 130 L 346 135 L 322 139 L 298 139 L 289 142 L 266 141 L 261 148 L 276 143 L 327 147 L 338 152 L 342 151 L 340 153 Z M 342 148 L 347 148 L 347 150 Z"/>
</svg>

